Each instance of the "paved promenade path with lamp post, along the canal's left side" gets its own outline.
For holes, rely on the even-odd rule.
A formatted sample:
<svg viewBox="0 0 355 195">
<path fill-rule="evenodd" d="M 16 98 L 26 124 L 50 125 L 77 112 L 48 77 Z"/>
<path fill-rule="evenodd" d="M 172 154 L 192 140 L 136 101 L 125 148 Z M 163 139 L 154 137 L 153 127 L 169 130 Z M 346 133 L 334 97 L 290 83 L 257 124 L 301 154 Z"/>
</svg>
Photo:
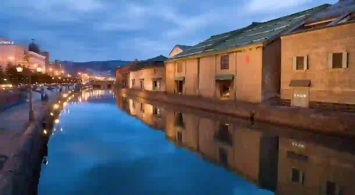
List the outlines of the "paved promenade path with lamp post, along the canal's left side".
<svg viewBox="0 0 355 195">
<path fill-rule="evenodd" d="M 43 109 L 43 102 L 36 92 L 33 96 L 33 111 L 36 117 Z M 49 101 L 53 100 L 55 93 L 49 95 Z M 0 112 L 0 155 L 10 156 L 18 146 L 17 138 L 24 132 L 28 125 L 29 103 L 23 103 Z"/>
</svg>

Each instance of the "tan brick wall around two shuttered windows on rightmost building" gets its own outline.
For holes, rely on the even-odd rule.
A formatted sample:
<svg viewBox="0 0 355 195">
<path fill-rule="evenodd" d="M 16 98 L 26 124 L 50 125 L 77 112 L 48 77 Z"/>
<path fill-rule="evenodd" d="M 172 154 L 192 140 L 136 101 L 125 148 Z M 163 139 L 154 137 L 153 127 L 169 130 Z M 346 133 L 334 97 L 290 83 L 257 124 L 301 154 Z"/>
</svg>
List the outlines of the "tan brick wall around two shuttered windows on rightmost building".
<svg viewBox="0 0 355 195">
<path fill-rule="evenodd" d="M 328 68 L 327 55 L 348 52 L 348 68 Z M 308 69 L 293 70 L 292 57 L 308 56 Z M 355 104 L 355 23 L 282 37 L 281 98 L 291 99 L 292 79 L 311 80 L 310 101 Z"/>
</svg>

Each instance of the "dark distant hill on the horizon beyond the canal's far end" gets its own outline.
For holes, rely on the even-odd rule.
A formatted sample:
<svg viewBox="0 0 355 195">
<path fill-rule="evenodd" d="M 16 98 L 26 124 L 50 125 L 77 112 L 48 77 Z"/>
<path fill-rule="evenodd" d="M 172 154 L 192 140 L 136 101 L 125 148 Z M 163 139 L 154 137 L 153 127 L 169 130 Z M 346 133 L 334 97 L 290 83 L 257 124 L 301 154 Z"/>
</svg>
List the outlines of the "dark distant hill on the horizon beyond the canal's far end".
<svg viewBox="0 0 355 195">
<path fill-rule="evenodd" d="M 109 61 L 91 61 L 91 62 L 71 62 L 61 61 L 66 72 L 75 74 L 77 72 L 100 73 L 100 72 L 115 72 L 118 66 L 126 66 L 131 61 L 109 60 Z"/>
</svg>

